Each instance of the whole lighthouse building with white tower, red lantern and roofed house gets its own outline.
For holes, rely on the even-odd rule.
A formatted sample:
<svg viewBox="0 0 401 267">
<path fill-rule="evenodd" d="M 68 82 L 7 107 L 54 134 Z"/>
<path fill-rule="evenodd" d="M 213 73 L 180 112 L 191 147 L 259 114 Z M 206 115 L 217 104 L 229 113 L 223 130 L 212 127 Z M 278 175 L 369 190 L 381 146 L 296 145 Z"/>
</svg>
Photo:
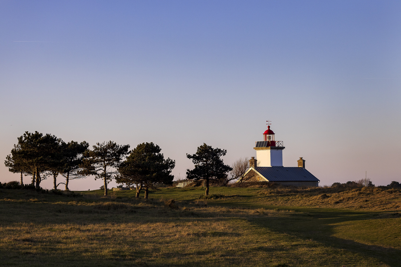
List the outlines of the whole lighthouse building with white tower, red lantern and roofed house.
<svg viewBox="0 0 401 267">
<path fill-rule="evenodd" d="M 249 169 L 241 181 L 271 182 L 283 186 L 317 187 L 319 179 L 305 169 L 305 160 L 300 157 L 298 167 L 283 166 L 283 141 L 276 141 L 270 125 L 263 132 L 263 141 L 256 141 L 256 159 L 249 160 Z"/>
</svg>

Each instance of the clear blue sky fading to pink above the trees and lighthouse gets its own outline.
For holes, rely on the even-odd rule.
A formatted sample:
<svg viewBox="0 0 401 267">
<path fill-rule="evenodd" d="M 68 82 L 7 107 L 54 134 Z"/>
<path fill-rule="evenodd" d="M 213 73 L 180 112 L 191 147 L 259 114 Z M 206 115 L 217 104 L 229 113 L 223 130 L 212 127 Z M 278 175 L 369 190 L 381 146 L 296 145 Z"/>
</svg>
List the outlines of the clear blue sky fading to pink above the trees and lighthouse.
<svg viewBox="0 0 401 267">
<path fill-rule="evenodd" d="M 399 1 L 2 0 L 0 25 L 2 159 L 37 130 L 154 142 L 185 177 L 203 143 L 256 156 L 271 120 L 320 185 L 401 182 Z"/>
</svg>

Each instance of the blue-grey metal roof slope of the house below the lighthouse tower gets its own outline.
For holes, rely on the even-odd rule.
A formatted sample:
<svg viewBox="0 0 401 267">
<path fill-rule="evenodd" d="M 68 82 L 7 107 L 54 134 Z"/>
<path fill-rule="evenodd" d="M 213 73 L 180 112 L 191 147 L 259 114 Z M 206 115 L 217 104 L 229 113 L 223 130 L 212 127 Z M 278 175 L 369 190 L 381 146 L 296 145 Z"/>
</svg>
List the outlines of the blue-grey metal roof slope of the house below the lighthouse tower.
<svg viewBox="0 0 401 267">
<path fill-rule="evenodd" d="M 255 167 L 255 170 L 269 181 L 320 181 L 302 167 Z"/>
</svg>

